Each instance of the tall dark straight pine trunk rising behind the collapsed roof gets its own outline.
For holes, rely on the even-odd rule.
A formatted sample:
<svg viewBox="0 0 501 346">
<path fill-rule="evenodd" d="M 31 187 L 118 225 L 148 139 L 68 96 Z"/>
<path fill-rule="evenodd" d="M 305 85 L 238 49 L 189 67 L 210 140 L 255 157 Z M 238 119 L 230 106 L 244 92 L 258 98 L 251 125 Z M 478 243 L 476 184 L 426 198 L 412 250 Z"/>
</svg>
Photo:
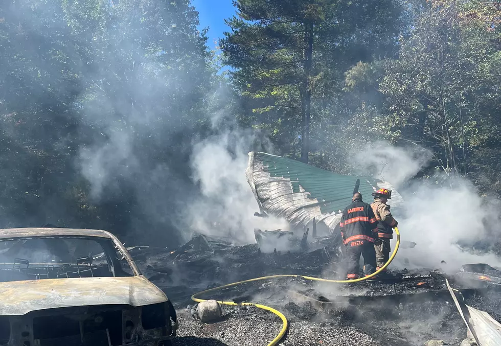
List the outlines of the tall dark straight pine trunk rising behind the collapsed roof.
<svg viewBox="0 0 501 346">
<path fill-rule="evenodd" d="M 313 24 L 305 24 L 305 52 L 304 52 L 304 116 L 303 116 L 303 146 L 301 148 L 301 161 L 308 163 L 310 151 L 310 114 L 311 114 L 311 60 L 313 55 Z"/>
</svg>

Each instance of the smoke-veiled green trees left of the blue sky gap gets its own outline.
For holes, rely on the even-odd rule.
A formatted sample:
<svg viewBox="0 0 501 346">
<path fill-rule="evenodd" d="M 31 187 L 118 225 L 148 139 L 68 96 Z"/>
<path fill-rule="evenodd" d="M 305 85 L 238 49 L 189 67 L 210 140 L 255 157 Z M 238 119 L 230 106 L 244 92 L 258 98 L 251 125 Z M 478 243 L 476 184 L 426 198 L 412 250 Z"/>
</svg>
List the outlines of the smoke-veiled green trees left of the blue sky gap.
<svg viewBox="0 0 501 346">
<path fill-rule="evenodd" d="M 159 227 L 138 200 L 189 181 L 187 144 L 219 102 L 190 1 L 22 0 L 0 17 L 1 226 Z"/>
</svg>

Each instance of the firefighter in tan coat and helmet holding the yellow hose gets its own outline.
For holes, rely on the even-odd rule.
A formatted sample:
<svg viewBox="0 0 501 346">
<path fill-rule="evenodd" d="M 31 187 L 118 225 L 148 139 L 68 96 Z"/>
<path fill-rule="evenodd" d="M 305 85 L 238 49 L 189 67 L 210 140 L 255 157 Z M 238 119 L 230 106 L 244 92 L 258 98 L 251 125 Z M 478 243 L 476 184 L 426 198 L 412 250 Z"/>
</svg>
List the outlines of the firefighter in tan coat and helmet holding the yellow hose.
<svg viewBox="0 0 501 346">
<path fill-rule="evenodd" d="M 371 207 L 378 220 L 378 239 L 374 248 L 376 250 L 376 270 L 379 270 L 390 259 L 390 239 L 393 238 L 393 227 L 396 227 L 398 222 L 390 212 L 390 205 L 386 204 L 392 198 L 392 190 L 379 189 L 372 195 L 374 202 L 372 202 Z"/>
</svg>

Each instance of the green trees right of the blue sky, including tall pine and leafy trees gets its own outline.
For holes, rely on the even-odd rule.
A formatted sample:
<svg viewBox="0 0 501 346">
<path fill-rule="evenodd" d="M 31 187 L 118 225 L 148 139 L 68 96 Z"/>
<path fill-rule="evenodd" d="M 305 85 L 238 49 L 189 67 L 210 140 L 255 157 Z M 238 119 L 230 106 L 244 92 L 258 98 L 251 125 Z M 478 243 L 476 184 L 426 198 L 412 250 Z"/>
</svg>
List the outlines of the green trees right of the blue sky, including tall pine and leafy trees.
<svg viewBox="0 0 501 346">
<path fill-rule="evenodd" d="M 299 157 L 307 126 L 314 165 L 352 172 L 354 151 L 386 140 L 430 149 L 431 171 L 467 175 L 497 191 L 498 160 L 481 157 L 499 145 L 498 4 L 246 0 L 236 6 L 232 32 L 221 43 L 244 98 L 241 120 L 265 131 L 282 155 Z M 311 121 L 305 122 L 308 91 Z"/>
</svg>

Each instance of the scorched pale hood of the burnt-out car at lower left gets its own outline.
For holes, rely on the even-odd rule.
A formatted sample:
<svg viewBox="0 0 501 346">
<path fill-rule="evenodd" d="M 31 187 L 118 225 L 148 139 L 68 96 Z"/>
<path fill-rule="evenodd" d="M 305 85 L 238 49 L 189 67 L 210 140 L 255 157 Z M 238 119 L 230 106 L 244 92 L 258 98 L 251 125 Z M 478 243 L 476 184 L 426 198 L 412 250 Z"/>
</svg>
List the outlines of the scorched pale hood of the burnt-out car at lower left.
<svg viewBox="0 0 501 346">
<path fill-rule="evenodd" d="M 0 315 L 90 305 L 142 306 L 167 296 L 143 275 L 125 278 L 72 278 L 0 283 Z"/>
</svg>

